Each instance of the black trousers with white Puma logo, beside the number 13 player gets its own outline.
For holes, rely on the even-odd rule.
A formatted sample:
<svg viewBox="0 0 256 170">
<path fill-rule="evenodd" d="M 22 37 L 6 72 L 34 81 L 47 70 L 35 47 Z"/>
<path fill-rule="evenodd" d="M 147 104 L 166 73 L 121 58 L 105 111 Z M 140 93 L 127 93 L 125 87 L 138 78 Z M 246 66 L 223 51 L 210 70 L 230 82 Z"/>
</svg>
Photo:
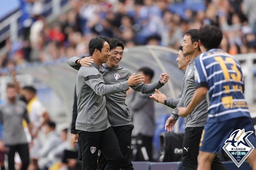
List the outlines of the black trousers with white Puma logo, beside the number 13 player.
<svg viewBox="0 0 256 170">
<path fill-rule="evenodd" d="M 182 167 L 184 170 L 197 169 L 197 156 L 199 153 L 199 143 L 204 127 L 187 127 L 183 139 Z M 216 156 L 211 164 L 212 170 L 227 170 Z"/>
</svg>

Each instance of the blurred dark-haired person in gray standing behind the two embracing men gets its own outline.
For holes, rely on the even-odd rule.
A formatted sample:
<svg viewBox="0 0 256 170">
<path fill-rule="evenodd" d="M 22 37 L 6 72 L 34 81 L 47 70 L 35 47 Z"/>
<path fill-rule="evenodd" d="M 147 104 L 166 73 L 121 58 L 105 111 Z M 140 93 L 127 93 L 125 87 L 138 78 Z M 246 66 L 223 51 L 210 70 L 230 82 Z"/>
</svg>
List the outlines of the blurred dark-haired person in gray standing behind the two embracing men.
<svg viewBox="0 0 256 170">
<path fill-rule="evenodd" d="M 154 76 L 151 68 L 143 67 L 138 70 L 142 74 L 145 84 L 150 84 Z M 142 94 L 133 91 L 131 94 L 129 108 L 131 111 L 134 129 L 132 137 L 136 138 L 136 155 L 133 161 L 152 161 L 152 139 L 155 131 L 154 101 L 149 97 L 152 93 Z"/>
</svg>

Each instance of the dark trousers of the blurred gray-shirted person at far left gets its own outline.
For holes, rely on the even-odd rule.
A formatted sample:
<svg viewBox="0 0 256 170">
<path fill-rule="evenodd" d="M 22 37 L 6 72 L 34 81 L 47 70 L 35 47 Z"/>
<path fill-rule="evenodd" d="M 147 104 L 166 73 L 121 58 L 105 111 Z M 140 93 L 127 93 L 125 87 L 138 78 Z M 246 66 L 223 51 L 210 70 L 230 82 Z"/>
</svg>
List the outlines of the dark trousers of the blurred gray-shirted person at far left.
<svg viewBox="0 0 256 170">
<path fill-rule="evenodd" d="M 8 152 L 8 169 L 15 170 L 14 168 L 14 156 L 15 152 L 19 153 L 22 167 L 21 170 L 27 170 L 29 165 L 29 151 L 28 151 L 28 144 L 17 144 L 17 145 L 6 145 L 9 149 Z"/>
</svg>

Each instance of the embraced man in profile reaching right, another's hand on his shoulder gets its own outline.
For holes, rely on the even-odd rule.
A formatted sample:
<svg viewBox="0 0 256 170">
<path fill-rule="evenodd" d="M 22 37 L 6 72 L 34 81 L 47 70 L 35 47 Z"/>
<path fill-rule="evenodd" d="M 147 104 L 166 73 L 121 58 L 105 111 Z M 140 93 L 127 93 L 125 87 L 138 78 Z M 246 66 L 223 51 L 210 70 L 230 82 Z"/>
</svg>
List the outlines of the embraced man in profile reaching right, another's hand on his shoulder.
<svg viewBox="0 0 256 170">
<path fill-rule="evenodd" d="M 105 169 L 119 170 L 123 156 L 107 118 L 104 96 L 128 90 L 129 86 L 143 81 L 143 76 L 133 74 L 119 84 L 105 84 L 99 67 L 106 63 L 110 56 L 108 42 L 108 39 L 103 37 L 90 40 L 89 51 L 94 63 L 89 67 L 81 67 L 77 74 L 76 129 L 81 140 L 83 170 L 97 169 L 99 148 L 108 160 Z"/>
</svg>

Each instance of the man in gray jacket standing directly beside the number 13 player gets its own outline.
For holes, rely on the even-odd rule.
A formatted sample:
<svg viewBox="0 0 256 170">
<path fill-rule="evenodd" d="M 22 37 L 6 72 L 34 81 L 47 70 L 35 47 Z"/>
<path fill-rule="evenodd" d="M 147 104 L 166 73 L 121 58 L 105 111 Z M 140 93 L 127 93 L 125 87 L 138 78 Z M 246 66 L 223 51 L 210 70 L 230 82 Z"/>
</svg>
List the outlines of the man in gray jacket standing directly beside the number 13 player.
<svg viewBox="0 0 256 170">
<path fill-rule="evenodd" d="M 177 107 L 186 107 L 192 99 L 196 90 L 194 79 L 194 59 L 201 53 L 198 45 L 198 30 L 190 29 L 185 32 L 183 38 L 183 54 L 190 58 L 189 65 L 184 72 L 184 91 Z M 167 119 L 165 130 L 172 131 L 178 119 L 177 107 Z M 185 118 L 185 133 L 183 139 L 182 167 L 184 170 L 197 169 L 197 156 L 199 143 L 206 119 L 208 117 L 207 96 L 196 108 Z M 225 169 L 226 167 L 216 157 L 211 165 L 211 169 Z"/>
</svg>

